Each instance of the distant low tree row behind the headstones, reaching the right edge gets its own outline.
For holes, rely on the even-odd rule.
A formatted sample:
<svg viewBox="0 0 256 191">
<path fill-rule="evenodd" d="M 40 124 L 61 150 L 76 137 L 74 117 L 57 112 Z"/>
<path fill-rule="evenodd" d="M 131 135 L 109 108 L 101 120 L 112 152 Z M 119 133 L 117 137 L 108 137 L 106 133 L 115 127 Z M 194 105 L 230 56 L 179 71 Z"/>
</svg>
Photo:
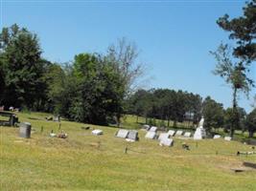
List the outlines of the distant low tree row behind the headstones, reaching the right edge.
<svg viewBox="0 0 256 191">
<path fill-rule="evenodd" d="M 137 122 L 138 117 L 145 117 L 145 123 L 150 125 L 176 128 L 177 122 L 186 122 L 187 127 L 195 129 L 200 117 L 204 117 L 204 128 L 208 135 L 221 128 L 230 132 L 233 125 L 232 108 L 224 109 L 221 103 L 210 96 L 203 99 L 199 95 L 181 90 L 141 89 L 128 98 L 127 105 L 128 114 L 136 115 Z M 255 111 L 247 115 L 244 109 L 239 107 L 239 125 L 234 130 L 248 131 L 252 137 L 256 130 Z M 156 123 L 155 119 L 161 120 Z"/>
</svg>

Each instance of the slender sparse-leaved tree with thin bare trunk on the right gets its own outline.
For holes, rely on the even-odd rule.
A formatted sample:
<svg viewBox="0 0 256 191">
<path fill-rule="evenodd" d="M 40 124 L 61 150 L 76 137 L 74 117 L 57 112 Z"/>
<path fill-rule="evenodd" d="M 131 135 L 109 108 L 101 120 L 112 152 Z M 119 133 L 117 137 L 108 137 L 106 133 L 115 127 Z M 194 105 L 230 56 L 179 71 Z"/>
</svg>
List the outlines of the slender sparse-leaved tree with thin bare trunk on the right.
<svg viewBox="0 0 256 191">
<path fill-rule="evenodd" d="M 230 127 L 230 136 L 233 137 L 235 129 L 238 129 L 240 125 L 237 102 L 238 92 L 242 91 L 247 95 L 251 86 L 253 86 L 253 81 L 247 77 L 244 62 L 242 60 L 233 61 L 229 50 L 230 48 L 227 45 L 221 44 L 216 52 L 211 53 L 218 62 L 214 74 L 220 75 L 227 84 L 231 85 L 233 90 L 233 121 Z"/>
</svg>

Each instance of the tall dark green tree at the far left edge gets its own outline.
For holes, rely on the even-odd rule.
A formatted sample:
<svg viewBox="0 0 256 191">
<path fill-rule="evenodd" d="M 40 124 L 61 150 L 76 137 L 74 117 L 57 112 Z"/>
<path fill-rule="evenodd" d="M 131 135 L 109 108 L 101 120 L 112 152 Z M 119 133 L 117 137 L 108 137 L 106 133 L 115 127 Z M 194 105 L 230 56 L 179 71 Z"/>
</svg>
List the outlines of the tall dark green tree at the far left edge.
<svg viewBox="0 0 256 191">
<path fill-rule="evenodd" d="M 4 103 L 34 108 L 43 83 L 43 62 L 37 36 L 17 25 L 4 28 L 0 36 L 6 85 Z"/>
</svg>

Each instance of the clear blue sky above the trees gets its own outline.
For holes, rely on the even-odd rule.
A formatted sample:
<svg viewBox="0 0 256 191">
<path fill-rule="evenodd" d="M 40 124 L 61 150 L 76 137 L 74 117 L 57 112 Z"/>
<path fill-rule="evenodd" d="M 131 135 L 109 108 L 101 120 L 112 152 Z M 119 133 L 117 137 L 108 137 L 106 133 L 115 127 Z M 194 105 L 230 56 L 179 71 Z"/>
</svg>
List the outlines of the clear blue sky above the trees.
<svg viewBox="0 0 256 191">
<path fill-rule="evenodd" d="M 127 37 L 137 44 L 145 63 L 145 88 L 181 89 L 212 96 L 231 105 L 231 90 L 212 74 L 209 51 L 228 42 L 216 20 L 242 15 L 244 1 L 3 1 L 2 24 L 13 23 L 38 34 L 43 56 L 72 61 L 77 53 L 105 53 L 109 44 Z M 256 64 L 251 77 L 256 81 Z M 255 95 L 255 89 L 252 91 Z M 247 112 L 252 99 L 241 95 Z"/>
</svg>

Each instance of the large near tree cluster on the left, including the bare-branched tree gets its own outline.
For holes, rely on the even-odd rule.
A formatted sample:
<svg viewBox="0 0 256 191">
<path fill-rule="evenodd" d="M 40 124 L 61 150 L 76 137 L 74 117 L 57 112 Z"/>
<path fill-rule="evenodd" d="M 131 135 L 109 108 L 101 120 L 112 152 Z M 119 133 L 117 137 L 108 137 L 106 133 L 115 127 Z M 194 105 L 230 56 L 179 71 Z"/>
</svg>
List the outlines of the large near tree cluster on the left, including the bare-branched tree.
<svg viewBox="0 0 256 191">
<path fill-rule="evenodd" d="M 105 54 L 79 53 L 69 64 L 42 57 L 35 33 L 14 24 L 0 34 L 0 104 L 107 124 L 124 114 L 124 100 L 142 65 L 125 38 Z"/>
</svg>

